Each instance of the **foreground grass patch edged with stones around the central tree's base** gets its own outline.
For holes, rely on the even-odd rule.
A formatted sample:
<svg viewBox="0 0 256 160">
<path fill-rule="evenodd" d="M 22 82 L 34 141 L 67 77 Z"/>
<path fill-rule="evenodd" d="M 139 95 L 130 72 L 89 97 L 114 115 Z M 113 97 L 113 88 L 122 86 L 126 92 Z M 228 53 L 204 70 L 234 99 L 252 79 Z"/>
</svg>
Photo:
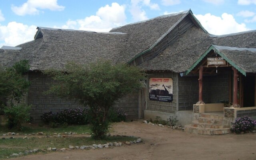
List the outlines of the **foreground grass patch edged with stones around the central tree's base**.
<svg viewBox="0 0 256 160">
<path fill-rule="evenodd" d="M 32 137 L 30 139 L 14 138 L 14 139 L 0 139 L 0 159 L 9 157 L 13 153 L 24 152 L 25 150 L 39 149 L 46 150 L 48 147 L 52 148 L 68 148 L 72 146 L 105 144 L 108 142 L 125 142 L 136 140 L 133 137 L 110 136 L 105 140 L 94 140 L 89 137 L 49 137 L 39 138 Z"/>
</svg>

